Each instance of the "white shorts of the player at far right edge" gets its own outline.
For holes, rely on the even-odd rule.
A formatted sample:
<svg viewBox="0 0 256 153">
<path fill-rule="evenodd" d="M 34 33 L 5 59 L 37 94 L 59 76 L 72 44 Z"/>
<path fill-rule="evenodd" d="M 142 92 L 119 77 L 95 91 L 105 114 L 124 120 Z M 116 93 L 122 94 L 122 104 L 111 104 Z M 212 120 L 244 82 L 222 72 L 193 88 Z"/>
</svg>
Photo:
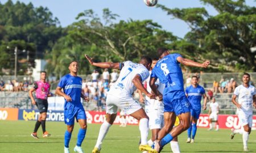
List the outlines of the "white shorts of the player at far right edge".
<svg viewBox="0 0 256 153">
<path fill-rule="evenodd" d="M 247 124 L 249 125 L 250 128 L 251 126 L 253 126 L 253 112 L 245 112 L 242 109 L 239 109 L 237 110 L 237 114 L 241 126 L 245 126 Z"/>
</svg>

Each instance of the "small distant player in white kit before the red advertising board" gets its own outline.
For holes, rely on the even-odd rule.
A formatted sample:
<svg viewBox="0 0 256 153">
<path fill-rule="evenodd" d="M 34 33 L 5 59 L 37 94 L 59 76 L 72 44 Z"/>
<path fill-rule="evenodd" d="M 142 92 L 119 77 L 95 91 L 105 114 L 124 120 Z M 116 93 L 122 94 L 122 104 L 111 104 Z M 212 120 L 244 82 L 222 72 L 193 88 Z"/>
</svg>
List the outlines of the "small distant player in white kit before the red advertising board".
<svg viewBox="0 0 256 153">
<path fill-rule="evenodd" d="M 212 97 L 212 103 L 210 103 L 210 109 L 209 109 L 209 125 L 210 128 L 208 130 L 212 130 L 212 122 L 216 123 L 216 131 L 218 131 L 218 103 L 215 102 L 215 97 Z"/>
</svg>

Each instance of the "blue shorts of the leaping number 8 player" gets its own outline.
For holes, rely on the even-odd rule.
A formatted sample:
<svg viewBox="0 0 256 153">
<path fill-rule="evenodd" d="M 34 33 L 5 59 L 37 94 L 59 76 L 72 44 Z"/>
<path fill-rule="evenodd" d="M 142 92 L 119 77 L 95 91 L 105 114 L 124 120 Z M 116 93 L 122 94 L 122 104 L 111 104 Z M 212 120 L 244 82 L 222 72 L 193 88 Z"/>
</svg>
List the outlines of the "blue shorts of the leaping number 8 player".
<svg viewBox="0 0 256 153">
<path fill-rule="evenodd" d="M 175 112 L 176 116 L 190 112 L 190 104 L 184 91 L 172 91 L 163 96 L 164 112 Z"/>
</svg>

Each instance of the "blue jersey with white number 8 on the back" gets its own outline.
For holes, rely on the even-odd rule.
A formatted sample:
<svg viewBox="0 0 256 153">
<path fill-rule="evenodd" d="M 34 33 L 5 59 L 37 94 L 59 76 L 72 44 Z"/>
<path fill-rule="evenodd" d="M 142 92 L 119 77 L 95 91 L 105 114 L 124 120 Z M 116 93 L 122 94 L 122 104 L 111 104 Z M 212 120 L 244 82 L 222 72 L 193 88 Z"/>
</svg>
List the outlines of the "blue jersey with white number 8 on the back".
<svg viewBox="0 0 256 153">
<path fill-rule="evenodd" d="M 175 53 L 163 57 L 152 70 L 151 77 L 165 84 L 164 95 L 172 91 L 184 91 L 183 74 L 177 57 L 181 55 Z"/>
</svg>

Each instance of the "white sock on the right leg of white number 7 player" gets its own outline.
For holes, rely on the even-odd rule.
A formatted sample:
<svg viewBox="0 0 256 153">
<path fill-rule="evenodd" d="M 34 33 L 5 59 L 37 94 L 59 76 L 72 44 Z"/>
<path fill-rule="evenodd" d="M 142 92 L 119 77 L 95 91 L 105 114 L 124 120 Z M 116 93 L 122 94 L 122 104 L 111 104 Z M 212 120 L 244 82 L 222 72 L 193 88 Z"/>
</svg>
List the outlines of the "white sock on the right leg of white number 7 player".
<svg viewBox="0 0 256 153">
<path fill-rule="evenodd" d="M 141 131 L 141 145 L 147 145 L 148 135 L 148 119 L 142 118 L 139 120 L 139 130 Z"/>
</svg>

